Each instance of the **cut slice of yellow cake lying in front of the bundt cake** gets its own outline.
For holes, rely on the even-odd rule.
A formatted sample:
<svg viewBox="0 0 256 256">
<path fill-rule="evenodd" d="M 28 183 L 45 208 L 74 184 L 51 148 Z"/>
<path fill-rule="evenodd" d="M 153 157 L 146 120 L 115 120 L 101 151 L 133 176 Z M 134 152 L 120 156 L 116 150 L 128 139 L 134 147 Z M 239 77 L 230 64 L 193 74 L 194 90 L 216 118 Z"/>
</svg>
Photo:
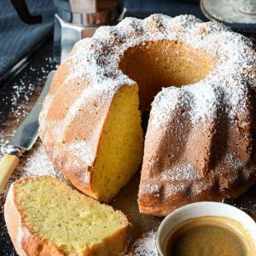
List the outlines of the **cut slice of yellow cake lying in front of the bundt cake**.
<svg viewBox="0 0 256 256">
<path fill-rule="evenodd" d="M 131 224 L 54 177 L 13 183 L 4 206 L 19 255 L 124 255 Z"/>
</svg>

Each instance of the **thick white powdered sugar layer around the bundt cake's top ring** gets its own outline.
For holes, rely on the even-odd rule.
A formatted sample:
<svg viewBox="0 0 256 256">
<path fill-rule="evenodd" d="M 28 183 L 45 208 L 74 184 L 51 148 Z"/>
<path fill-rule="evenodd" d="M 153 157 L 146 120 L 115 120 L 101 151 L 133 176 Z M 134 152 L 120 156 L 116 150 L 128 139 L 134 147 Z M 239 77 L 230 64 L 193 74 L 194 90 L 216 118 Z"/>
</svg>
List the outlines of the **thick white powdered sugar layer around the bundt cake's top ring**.
<svg viewBox="0 0 256 256">
<path fill-rule="evenodd" d="M 255 86 L 256 80 L 253 73 L 256 55 L 252 43 L 220 23 L 202 22 L 192 15 L 175 18 L 151 15 L 145 20 L 125 18 L 117 26 L 100 27 L 91 39 L 80 41 L 77 51 L 70 57 L 75 63 L 72 79 L 86 73 L 91 81 L 87 96 L 113 96 L 123 84 L 135 84 L 119 69 L 125 50 L 143 42 L 164 39 L 204 49 L 218 58 L 218 64 L 198 83 L 182 88 L 170 84 L 161 90 L 152 108 L 155 125 L 170 118 L 170 109 L 181 104 L 191 105 L 191 102 L 194 105 L 190 111 L 193 122 L 210 118 L 214 114 L 212 106 L 223 97 L 231 117 L 235 118 L 241 109 L 246 111 L 247 85 Z"/>
</svg>

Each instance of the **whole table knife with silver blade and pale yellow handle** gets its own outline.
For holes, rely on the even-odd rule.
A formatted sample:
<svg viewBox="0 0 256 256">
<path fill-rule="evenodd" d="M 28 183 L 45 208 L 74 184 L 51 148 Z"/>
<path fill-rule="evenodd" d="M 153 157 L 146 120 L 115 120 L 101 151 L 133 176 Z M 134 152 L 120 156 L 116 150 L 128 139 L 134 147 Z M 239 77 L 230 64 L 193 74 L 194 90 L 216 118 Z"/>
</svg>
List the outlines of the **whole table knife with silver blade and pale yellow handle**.
<svg viewBox="0 0 256 256">
<path fill-rule="evenodd" d="M 14 137 L 9 142 L 9 145 L 3 149 L 4 155 L 0 161 L 0 194 L 3 193 L 9 177 L 18 166 L 20 157 L 24 152 L 30 150 L 38 138 L 38 117 L 42 109 L 42 104 L 45 96 L 49 92 L 49 86 L 53 79 L 55 71 L 51 71 L 48 75 L 44 89 L 42 90 L 38 101 L 33 106 L 31 112 L 26 116 L 26 119 L 15 131 Z"/>
</svg>

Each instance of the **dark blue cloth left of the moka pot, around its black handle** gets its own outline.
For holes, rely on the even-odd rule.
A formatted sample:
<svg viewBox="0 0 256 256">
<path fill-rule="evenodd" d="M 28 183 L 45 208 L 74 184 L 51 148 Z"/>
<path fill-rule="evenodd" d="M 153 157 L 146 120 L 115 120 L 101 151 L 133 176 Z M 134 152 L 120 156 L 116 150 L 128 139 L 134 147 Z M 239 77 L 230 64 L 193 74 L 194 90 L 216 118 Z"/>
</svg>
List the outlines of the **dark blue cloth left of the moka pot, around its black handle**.
<svg viewBox="0 0 256 256">
<path fill-rule="evenodd" d="M 26 3 L 32 15 L 43 16 L 42 23 L 27 25 L 20 20 L 9 0 L 0 0 L 0 74 L 53 28 L 55 6 L 52 0 L 26 0 Z"/>
</svg>

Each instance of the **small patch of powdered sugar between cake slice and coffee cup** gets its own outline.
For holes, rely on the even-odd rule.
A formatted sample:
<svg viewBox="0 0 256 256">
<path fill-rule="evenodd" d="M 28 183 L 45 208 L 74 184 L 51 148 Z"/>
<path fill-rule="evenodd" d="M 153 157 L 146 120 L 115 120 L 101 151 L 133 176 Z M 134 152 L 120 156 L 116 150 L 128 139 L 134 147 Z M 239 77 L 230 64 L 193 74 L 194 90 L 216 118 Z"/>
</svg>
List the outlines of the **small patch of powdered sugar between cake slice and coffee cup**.
<svg viewBox="0 0 256 256">
<path fill-rule="evenodd" d="M 134 256 L 156 256 L 157 249 L 155 247 L 156 232 L 150 231 L 137 239 L 131 249 Z"/>
</svg>

